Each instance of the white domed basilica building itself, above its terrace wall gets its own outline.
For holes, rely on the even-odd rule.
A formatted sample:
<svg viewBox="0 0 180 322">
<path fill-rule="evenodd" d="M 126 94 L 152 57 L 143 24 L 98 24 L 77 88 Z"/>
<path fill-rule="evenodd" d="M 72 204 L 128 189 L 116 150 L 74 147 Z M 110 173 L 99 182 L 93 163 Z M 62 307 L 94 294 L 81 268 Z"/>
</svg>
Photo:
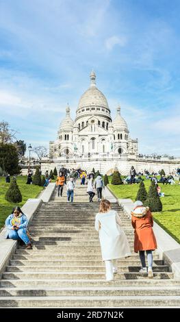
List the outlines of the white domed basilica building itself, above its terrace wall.
<svg viewBox="0 0 180 322">
<path fill-rule="evenodd" d="M 120 106 L 112 120 L 111 110 L 105 95 L 97 88 L 96 75 L 90 73 L 90 87 L 79 99 L 75 121 L 66 107 L 66 117 L 60 123 L 57 139 L 49 144 L 50 158 L 63 156 L 136 156 L 138 139 L 133 140 Z"/>
</svg>

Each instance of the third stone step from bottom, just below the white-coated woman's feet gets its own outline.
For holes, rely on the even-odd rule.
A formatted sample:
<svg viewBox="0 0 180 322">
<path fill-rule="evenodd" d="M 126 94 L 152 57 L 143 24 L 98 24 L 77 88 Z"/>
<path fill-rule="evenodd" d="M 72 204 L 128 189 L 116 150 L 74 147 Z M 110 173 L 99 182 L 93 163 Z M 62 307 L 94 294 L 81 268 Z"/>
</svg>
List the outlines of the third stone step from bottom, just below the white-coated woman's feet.
<svg viewBox="0 0 180 322">
<path fill-rule="evenodd" d="M 172 279 L 166 279 L 166 280 L 160 280 L 160 279 L 149 279 L 149 278 L 143 278 L 141 279 L 141 277 L 138 280 L 113 280 L 113 281 L 106 281 L 105 280 L 105 275 L 104 278 L 101 280 L 94 280 L 94 279 L 81 279 L 79 278 L 78 280 L 62 280 L 62 279 L 53 279 L 53 277 L 51 278 L 51 280 L 47 280 L 47 278 L 41 278 L 41 279 L 36 279 L 36 280 L 31 280 L 31 279 L 21 279 L 21 280 L 0 280 L 0 287 L 26 287 L 26 288 L 31 288 L 31 287 L 36 287 L 36 288 L 40 288 L 40 287 L 48 287 L 48 288 L 52 288 L 52 287 L 114 287 L 114 286 L 119 286 L 119 287 L 128 287 L 129 289 L 131 289 L 131 287 L 136 286 L 138 288 L 141 288 L 142 286 L 157 286 L 159 287 L 170 287 L 170 286 L 174 286 L 174 288 L 178 288 L 179 287 L 179 280 L 172 280 Z"/>
</svg>

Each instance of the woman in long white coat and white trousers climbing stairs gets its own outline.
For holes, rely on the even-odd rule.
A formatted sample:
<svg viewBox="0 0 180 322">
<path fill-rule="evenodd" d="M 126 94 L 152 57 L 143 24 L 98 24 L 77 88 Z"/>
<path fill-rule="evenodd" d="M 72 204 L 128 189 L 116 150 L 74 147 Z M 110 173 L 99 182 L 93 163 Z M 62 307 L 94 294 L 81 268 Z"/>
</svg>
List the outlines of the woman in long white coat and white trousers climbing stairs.
<svg viewBox="0 0 180 322">
<path fill-rule="evenodd" d="M 127 237 L 120 225 L 121 221 L 118 213 L 115 210 L 111 210 L 110 201 L 102 200 L 99 213 L 96 215 L 95 229 L 99 232 L 107 281 L 113 280 L 113 273 L 117 273 L 116 260 L 131 256 Z"/>
</svg>

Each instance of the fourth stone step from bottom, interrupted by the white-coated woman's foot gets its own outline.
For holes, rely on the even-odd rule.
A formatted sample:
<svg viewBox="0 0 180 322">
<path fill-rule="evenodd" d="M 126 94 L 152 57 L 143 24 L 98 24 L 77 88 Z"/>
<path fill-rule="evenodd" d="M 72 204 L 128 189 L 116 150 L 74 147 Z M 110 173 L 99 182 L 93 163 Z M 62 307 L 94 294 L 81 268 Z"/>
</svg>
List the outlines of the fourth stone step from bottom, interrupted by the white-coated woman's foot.
<svg viewBox="0 0 180 322">
<path fill-rule="evenodd" d="M 116 280 L 133 280 L 133 279 L 143 279 L 147 278 L 146 273 L 138 273 L 138 272 L 126 272 L 126 273 L 117 273 L 114 274 Z M 155 279 L 170 279 L 173 278 L 173 273 L 169 272 L 158 272 L 153 274 Z M 5 280 L 14 280 L 14 279 L 44 279 L 47 278 L 48 280 L 50 279 L 96 279 L 96 280 L 103 280 L 105 278 L 105 273 L 100 273 L 100 272 L 5 272 L 2 274 L 3 279 Z"/>
</svg>

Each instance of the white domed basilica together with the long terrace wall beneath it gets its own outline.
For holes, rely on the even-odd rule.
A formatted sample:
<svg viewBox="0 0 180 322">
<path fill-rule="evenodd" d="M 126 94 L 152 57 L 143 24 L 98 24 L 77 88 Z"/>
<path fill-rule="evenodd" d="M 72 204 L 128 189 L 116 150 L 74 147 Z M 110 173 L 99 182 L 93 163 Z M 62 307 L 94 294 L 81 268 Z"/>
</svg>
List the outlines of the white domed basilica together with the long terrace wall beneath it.
<svg viewBox="0 0 180 322">
<path fill-rule="evenodd" d="M 44 159 L 44 160 L 43 160 Z M 57 139 L 49 143 L 49 158 L 40 161 L 42 173 L 57 171 L 62 165 L 68 169 L 99 170 L 103 175 L 118 168 L 122 175 L 129 174 L 131 166 L 136 172 L 164 169 L 170 173 L 179 166 L 179 158 L 143 156 L 138 154 L 138 139 L 131 139 L 120 106 L 112 121 L 107 99 L 97 88 L 94 71 L 90 74 L 90 88 L 79 100 L 75 121 L 66 107 L 66 117 L 60 124 Z"/>
</svg>

